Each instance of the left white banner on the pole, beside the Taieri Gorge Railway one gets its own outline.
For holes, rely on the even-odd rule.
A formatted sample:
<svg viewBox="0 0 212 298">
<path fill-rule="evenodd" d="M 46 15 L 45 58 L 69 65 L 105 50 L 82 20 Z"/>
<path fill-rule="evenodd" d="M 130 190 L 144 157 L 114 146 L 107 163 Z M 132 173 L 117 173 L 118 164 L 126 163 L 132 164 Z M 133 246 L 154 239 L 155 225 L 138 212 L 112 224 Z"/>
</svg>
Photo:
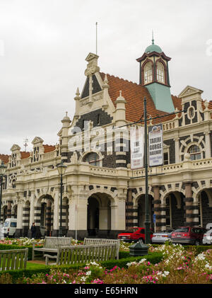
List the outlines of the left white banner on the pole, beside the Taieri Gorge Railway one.
<svg viewBox="0 0 212 298">
<path fill-rule="evenodd" d="M 130 128 L 131 169 L 143 168 L 144 127 Z"/>
</svg>

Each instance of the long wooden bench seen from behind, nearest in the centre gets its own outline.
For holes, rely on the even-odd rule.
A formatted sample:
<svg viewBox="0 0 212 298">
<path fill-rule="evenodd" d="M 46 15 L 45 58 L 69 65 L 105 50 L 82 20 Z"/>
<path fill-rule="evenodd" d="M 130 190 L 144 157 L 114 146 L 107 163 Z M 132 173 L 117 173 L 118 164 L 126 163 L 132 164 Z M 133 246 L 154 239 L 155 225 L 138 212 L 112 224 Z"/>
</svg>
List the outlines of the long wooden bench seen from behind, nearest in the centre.
<svg viewBox="0 0 212 298">
<path fill-rule="evenodd" d="M 95 244 L 77 245 L 57 248 L 57 256 L 45 254 L 46 265 L 71 265 L 90 263 L 93 261 L 112 260 L 117 254 L 117 245 Z M 49 258 L 56 259 L 56 263 L 49 264 Z"/>
</svg>

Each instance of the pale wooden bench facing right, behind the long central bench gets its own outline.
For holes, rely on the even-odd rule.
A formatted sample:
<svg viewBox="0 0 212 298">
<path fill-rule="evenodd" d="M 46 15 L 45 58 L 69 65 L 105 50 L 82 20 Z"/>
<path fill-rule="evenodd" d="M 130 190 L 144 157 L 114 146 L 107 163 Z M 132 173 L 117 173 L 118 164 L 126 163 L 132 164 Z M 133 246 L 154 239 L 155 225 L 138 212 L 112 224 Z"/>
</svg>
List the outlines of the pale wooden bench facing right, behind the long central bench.
<svg viewBox="0 0 212 298">
<path fill-rule="evenodd" d="M 71 246 L 71 237 L 45 237 L 43 247 L 36 247 L 33 243 L 33 257 L 32 260 L 35 260 L 35 251 L 42 251 L 42 253 L 57 253 L 57 248 L 59 246 Z"/>
</svg>

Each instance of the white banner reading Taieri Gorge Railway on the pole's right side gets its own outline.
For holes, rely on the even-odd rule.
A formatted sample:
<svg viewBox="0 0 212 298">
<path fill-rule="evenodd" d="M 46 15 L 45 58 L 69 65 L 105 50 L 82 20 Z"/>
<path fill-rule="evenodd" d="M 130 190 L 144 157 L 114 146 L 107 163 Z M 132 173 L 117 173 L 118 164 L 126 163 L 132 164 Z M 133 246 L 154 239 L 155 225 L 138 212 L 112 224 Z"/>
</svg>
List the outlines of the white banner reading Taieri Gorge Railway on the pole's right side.
<svg viewBox="0 0 212 298">
<path fill-rule="evenodd" d="M 163 165 L 163 127 L 162 124 L 148 127 L 149 166 Z"/>
</svg>

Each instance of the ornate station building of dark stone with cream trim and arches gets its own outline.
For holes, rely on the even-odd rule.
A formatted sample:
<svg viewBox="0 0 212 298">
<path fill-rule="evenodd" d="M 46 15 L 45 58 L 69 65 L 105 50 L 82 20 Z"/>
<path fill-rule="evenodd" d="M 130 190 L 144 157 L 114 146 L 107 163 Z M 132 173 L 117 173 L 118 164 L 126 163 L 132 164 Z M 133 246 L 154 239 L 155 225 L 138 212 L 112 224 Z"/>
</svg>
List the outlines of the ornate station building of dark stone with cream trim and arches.
<svg viewBox="0 0 212 298">
<path fill-rule="evenodd" d="M 144 96 L 149 118 L 167 115 L 155 108 L 142 84 L 143 59 L 153 61 L 154 55 L 157 61 L 170 61 L 164 53 L 147 52 L 139 58 L 144 79 L 138 85 L 101 73 L 98 56 L 90 53 L 82 96 L 77 88 L 75 114 L 70 120 L 66 113 L 61 120 L 59 144 L 45 145 L 35 137 L 33 151 L 22 152 L 14 144 L 10 156 L 0 155 L 7 165 L 1 219 L 17 217 L 16 236 L 30 236 L 33 222 L 37 236 L 41 226 L 47 235 L 57 236 L 60 210 L 63 234 L 77 239 L 114 238 L 119 231 L 144 224 L 145 170 L 131 170 L 129 124 L 142 118 Z M 153 83 L 161 84 L 156 75 Z M 148 168 L 149 212 L 152 227 L 156 215 L 156 231 L 212 222 L 212 103 L 202 100 L 202 92 L 187 86 L 172 96 L 176 114 L 160 119 L 166 163 Z M 155 101 L 162 106 L 160 93 Z M 124 125 L 129 125 L 125 131 L 117 130 Z M 57 171 L 61 161 L 67 166 L 62 204 Z"/>
</svg>

